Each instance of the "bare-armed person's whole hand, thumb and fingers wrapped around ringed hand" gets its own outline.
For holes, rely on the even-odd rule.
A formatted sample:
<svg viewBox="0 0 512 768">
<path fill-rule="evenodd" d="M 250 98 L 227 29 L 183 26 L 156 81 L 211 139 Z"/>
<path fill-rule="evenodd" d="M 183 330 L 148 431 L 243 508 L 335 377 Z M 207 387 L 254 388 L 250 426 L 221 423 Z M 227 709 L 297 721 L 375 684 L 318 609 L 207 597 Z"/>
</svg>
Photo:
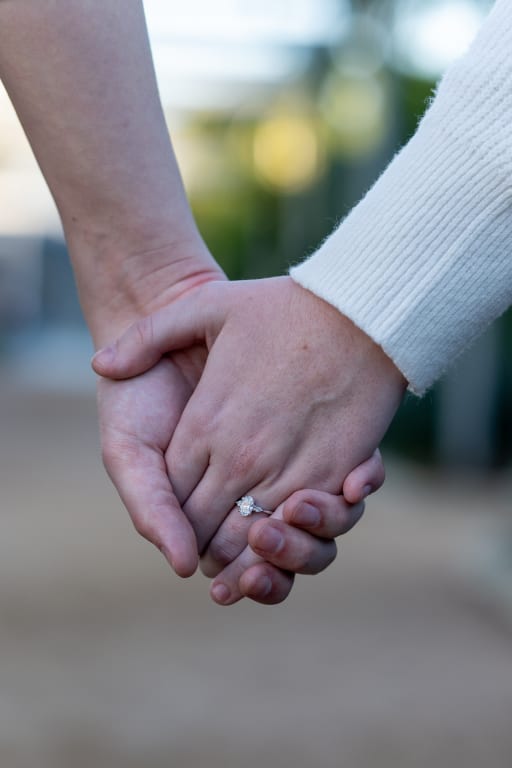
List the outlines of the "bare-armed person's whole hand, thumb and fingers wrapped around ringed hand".
<svg viewBox="0 0 512 768">
<path fill-rule="evenodd" d="M 169 481 L 165 451 L 176 423 L 189 399 L 204 365 L 204 351 L 196 348 L 177 355 L 177 363 L 162 360 L 151 371 L 129 381 L 102 379 L 98 383 L 98 405 L 103 456 L 139 534 L 155 544 L 180 576 L 191 575 L 197 565 L 195 532 L 181 511 Z M 266 520 L 253 524 L 255 552 L 248 551 L 247 531 L 235 541 L 232 526 L 224 521 L 202 559 L 202 570 L 218 576 L 212 596 L 231 604 L 246 594 L 263 603 L 284 600 L 292 586 L 293 573 L 318 573 L 333 560 L 334 537 L 348 531 L 362 515 L 361 503 L 370 490 L 384 481 L 384 468 L 378 452 L 357 467 L 346 479 L 347 498 L 331 497 L 315 491 L 301 491 L 285 505 L 279 532 L 283 546 L 278 553 L 266 548 Z M 316 503 L 317 522 L 304 519 Z M 325 498 L 324 498 L 325 497 Z M 348 501 L 350 503 L 348 503 Z M 360 503 L 358 503 L 360 502 Z M 272 520 L 281 517 L 279 513 Z M 240 516 L 238 518 L 241 520 Z M 235 518 L 236 521 L 236 518 Z M 227 541 L 231 549 L 228 549 Z M 331 539 L 328 541 L 327 539 Z M 267 536 L 268 540 L 268 536 Z M 236 549 L 233 549 L 233 545 Z M 257 566 L 267 560 L 265 565 Z M 231 561 L 235 561 L 230 567 Z M 221 572 L 222 566 L 228 567 Z M 244 568 L 251 572 L 244 576 Z M 239 580 L 241 579 L 240 585 Z M 270 588 L 269 588 L 270 583 Z M 229 595 L 219 595 L 224 585 Z"/>
</svg>

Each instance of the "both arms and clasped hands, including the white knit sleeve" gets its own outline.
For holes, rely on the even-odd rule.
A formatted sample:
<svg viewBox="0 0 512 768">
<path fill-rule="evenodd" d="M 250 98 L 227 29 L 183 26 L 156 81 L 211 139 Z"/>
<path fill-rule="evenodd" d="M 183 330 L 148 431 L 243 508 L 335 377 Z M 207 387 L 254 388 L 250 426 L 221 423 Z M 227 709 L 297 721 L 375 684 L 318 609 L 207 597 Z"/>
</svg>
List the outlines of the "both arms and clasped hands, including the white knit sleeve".
<svg viewBox="0 0 512 768">
<path fill-rule="evenodd" d="M 416 391 L 511 302 L 511 34 L 497 2 L 413 139 L 302 273 Z M 181 576 L 201 558 L 217 602 L 279 602 L 294 573 L 329 564 L 381 485 L 375 451 L 404 377 L 291 279 L 225 281 L 181 183 L 142 0 L 0 2 L 0 78 L 94 343 L 117 338 L 94 369 L 105 465 L 136 528 Z M 242 517 L 244 495 L 273 513 Z"/>
</svg>

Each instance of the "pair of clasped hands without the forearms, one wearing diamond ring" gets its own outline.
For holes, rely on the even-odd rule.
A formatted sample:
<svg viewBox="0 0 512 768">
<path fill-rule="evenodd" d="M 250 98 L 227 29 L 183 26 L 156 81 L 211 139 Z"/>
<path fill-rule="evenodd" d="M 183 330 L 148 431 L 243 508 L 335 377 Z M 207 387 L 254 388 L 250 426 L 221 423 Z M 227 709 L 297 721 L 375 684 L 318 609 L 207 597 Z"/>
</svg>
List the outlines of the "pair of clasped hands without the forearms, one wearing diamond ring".
<svg viewBox="0 0 512 768">
<path fill-rule="evenodd" d="M 376 456 L 349 473 L 379 443 L 402 377 L 289 278 L 193 287 L 93 365 L 118 380 L 100 383 L 105 463 L 137 529 L 181 575 L 200 552 L 218 602 L 284 599 L 292 572 L 334 558 L 362 514 L 348 501 L 382 483 Z M 245 494 L 275 513 L 251 528 L 235 506 Z"/>
</svg>

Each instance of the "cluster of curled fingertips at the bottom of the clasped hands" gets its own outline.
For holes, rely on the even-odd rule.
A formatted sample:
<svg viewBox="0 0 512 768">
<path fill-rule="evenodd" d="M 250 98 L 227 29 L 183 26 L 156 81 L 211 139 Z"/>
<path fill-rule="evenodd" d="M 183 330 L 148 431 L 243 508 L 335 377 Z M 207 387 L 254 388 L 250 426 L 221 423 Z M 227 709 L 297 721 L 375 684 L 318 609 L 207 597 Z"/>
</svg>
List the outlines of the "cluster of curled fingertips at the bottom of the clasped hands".
<svg viewBox="0 0 512 768">
<path fill-rule="evenodd" d="M 320 573 L 337 554 L 335 537 L 349 531 L 361 518 L 364 498 L 384 482 L 379 451 L 345 480 L 343 496 L 320 491 L 298 491 L 270 517 L 257 520 L 249 529 L 250 546 L 233 557 L 233 528 L 221 525 L 201 561 L 203 572 L 216 576 L 210 594 L 221 605 L 242 597 L 273 605 L 286 599 L 296 573 Z M 236 513 L 233 513 L 236 514 Z M 240 515 L 238 515 L 240 519 Z M 236 519 L 236 518 L 235 518 Z M 213 557 L 212 557 L 213 554 Z M 219 562 L 232 560 L 219 573 Z"/>
</svg>

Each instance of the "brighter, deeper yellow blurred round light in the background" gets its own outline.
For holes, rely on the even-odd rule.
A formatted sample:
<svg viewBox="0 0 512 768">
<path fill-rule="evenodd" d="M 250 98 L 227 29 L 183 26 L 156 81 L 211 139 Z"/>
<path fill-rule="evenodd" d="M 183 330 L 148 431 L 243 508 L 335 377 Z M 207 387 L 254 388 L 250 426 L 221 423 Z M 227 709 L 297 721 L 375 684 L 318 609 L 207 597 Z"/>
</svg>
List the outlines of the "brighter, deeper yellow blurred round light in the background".
<svg viewBox="0 0 512 768">
<path fill-rule="evenodd" d="M 299 192 L 318 177 L 321 151 L 312 120 L 276 115 L 256 128 L 254 166 L 260 179 L 285 192 Z"/>
</svg>

